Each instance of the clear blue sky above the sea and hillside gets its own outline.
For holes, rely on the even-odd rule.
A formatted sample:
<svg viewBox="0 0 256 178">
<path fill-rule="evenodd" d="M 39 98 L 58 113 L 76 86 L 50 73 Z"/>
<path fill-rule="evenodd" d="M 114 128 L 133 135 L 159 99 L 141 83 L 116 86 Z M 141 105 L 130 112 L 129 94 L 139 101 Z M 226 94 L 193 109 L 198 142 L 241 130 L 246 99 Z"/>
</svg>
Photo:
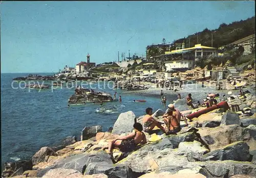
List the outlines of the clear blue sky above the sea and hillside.
<svg viewBox="0 0 256 178">
<path fill-rule="evenodd" d="M 57 72 L 145 56 L 147 45 L 255 15 L 254 1 L 2 2 L 1 72 Z"/>
</svg>

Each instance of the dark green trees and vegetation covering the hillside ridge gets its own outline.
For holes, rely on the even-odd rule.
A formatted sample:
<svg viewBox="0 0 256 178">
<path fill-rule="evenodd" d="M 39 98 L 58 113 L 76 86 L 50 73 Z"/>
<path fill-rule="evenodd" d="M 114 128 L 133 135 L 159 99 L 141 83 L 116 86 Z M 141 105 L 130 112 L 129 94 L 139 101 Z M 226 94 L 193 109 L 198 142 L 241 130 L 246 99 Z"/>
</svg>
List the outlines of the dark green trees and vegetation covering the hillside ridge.
<svg viewBox="0 0 256 178">
<path fill-rule="evenodd" d="M 187 37 L 177 39 L 172 44 L 151 45 L 147 47 L 147 58 L 150 56 L 158 56 L 164 54 L 165 51 L 175 50 L 178 45 L 185 43 L 185 47 L 193 47 L 196 44 L 203 46 L 211 46 L 219 48 L 228 45 L 238 39 L 244 38 L 255 33 L 255 16 L 247 18 L 246 20 L 235 21 L 231 24 L 220 24 L 218 29 L 209 30 L 205 28 L 201 32 L 188 35 Z M 198 43 L 197 43 L 198 39 Z"/>
</svg>

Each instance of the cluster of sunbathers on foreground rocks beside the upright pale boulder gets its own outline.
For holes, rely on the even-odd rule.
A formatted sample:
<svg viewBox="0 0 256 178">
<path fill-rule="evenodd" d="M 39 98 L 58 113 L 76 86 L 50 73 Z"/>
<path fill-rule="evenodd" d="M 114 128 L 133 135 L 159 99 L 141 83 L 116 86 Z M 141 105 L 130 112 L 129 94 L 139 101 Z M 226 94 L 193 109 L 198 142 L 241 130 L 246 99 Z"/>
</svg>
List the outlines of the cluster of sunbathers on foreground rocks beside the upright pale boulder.
<svg viewBox="0 0 256 178">
<path fill-rule="evenodd" d="M 122 152 L 131 152 L 135 150 L 138 145 L 146 144 L 146 136 L 142 131 L 150 133 L 156 126 L 166 135 L 176 134 L 181 130 L 181 117 L 183 117 L 186 126 L 188 126 L 185 115 L 175 108 L 173 104 L 168 105 L 168 109 L 163 115 L 163 123 L 154 118 L 152 108 L 146 108 L 146 115 L 142 118 L 144 129 L 140 123 L 136 122 L 133 125 L 134 130 L 132 133 L 126 136 L 118 136 L 116 139 L 109 141 L 108 152 L 112 155 L 114 148 L 117 148 Z"/>
</svg>

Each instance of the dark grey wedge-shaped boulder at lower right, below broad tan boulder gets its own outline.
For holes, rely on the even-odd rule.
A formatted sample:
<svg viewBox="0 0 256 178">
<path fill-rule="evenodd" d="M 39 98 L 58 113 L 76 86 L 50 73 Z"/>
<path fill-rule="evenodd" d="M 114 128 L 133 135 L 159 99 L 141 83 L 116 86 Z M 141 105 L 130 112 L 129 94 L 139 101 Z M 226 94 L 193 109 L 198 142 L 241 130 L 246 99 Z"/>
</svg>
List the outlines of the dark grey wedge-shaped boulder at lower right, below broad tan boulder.
<svg viewBox="0 0 256 178">
<path fill-rule="evenodd" d="M 250 158 L 249 146 L 245 142 L 234 142 L 226 145 L 225 147 L 204 154 L 203 158 L 211 161 L 248 161 Z"/>
</svg>

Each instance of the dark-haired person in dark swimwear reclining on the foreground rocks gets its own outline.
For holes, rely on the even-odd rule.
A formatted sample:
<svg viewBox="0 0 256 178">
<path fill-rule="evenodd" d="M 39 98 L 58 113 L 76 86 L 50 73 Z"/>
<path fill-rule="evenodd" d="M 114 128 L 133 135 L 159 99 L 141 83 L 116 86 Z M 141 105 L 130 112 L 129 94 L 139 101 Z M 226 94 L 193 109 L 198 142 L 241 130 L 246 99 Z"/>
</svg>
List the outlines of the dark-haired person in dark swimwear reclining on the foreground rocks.
<svg viewBox="0 0 256 178">
<path fill-rule="evenodd" d="M 138 144 L 146 144 L 146 136 L 142 132 L 143 127 L 140 123 L 133 125 L 134 131 L 127 136 L 119 136 L 117 139 L 109 141 L 109 154 L 112 155 L 114 148 L 122 152 L 134 151 Z"/>
</svg>

